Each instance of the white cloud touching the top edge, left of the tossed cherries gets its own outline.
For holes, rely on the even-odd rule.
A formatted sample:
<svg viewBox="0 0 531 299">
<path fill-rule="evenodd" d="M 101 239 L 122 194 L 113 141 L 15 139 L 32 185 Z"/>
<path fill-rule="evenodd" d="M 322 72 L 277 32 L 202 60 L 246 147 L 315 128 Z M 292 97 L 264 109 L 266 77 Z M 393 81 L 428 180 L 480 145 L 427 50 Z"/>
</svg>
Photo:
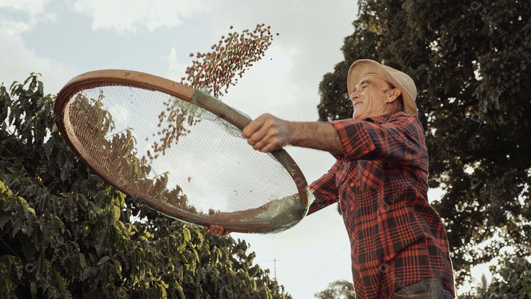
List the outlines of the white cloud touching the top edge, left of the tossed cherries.
<svg viewBox="0 0 531 299">
<path fill-rule="evenodd" d="M 116 30 L 119 33 L 176 27 L 203 8 L 200 0 L 78 0 L 74 4 L 75 11 L 92 16 L 93 30 Z"/>
</svg>

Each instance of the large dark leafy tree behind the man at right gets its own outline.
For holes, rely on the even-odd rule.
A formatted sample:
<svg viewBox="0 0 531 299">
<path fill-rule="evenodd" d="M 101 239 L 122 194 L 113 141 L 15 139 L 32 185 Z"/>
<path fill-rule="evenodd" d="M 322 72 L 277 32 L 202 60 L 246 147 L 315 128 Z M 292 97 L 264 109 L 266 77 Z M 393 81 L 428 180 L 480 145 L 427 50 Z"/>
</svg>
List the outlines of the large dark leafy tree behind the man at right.
<svg viewBox="0 0 531 299">
<path fill-rule="evenodd" d="M 348 67 L 369 58 L 415 80 L 429 186 L 457 283 L 504 246 L 531 250 L 531 3 L 359 1 L 344 61 L 320 83 L 320 119 L 348 118 Z M 484 247 L 479 244 L 486 242 Z M 481 248 L 481 250 L 480 250 Z"/>
</svg>

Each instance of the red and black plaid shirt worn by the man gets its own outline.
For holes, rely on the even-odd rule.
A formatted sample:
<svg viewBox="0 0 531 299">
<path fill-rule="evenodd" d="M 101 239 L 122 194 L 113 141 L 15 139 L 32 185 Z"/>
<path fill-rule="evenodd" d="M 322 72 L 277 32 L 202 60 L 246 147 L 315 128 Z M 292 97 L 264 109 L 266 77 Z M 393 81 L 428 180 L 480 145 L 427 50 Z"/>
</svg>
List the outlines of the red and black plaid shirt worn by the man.
<svg viewBox="0 0 531 299">
<path fill-rule="evenodd" d="M 350 239 L 356 298 L 438 278 L 454 293 L 448 238 L 427 200 L 428 153 L 417 116 L 405 112 L 329 122 L 343 155 L 313 182 L 308 215 L 339 201 Z"/>
</svg>

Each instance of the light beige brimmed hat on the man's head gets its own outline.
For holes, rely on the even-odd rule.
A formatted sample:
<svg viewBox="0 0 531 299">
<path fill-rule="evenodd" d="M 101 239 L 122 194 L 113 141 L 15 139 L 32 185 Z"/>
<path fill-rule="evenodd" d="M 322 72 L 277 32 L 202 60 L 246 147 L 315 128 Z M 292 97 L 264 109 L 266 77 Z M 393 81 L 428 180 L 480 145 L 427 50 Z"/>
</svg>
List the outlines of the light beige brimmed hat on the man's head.
<svg viewBox="0 0 531 299">
<path fill-rule="evenodd" d="M 410 76 L 372 59 L 358 59 L 350 65 L 350 69 L 348 70 L 347 89 L 349 95 L 352 95 L 356 84 L 366 75 L 377 76 L 400 89 L 404 98 L 406 112 L 417 115 L 417 105 L 415 104 L 417 88 Z"/>
</svg>

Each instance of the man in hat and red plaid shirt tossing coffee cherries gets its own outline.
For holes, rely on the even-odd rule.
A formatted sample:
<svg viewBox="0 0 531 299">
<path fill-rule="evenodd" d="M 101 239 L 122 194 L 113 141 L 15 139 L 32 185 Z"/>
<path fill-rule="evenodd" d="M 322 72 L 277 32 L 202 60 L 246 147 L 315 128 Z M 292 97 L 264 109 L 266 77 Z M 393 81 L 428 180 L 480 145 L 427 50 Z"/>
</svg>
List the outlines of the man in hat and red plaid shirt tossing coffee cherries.
<svg viewBox="0 0 531 299">
<path fill-rule="evenodd" d="M 446 231 L 427 201 L 428 155 L 413 79 L 360 59 L 350 66 L 347 89 L 352 119 L 304 123 L 263 114 L 242 135 L 263 152 L 292 145 L 337 159 L 310 185 L 315 200 L 307 215 L 339 199 L 356 298 L 455 297 Z"/>
</svg>

